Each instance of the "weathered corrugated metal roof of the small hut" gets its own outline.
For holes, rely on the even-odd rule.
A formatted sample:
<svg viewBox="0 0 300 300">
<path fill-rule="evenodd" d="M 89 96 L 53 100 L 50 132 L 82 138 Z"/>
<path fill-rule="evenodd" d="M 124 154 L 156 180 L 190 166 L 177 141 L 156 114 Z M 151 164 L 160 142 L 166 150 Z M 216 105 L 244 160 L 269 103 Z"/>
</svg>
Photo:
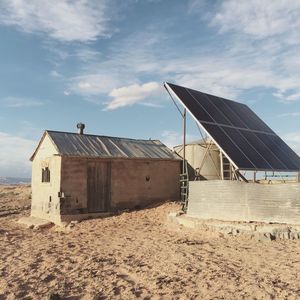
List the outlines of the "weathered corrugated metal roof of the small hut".
<svg viewBox="0 0 300 300">
<path fill-rule="evenodd" d="M 179 157 L 158 140 L 135 140 L 46 131 L 61 155 L 120 158 L 178 159 Z"/>
</svg>

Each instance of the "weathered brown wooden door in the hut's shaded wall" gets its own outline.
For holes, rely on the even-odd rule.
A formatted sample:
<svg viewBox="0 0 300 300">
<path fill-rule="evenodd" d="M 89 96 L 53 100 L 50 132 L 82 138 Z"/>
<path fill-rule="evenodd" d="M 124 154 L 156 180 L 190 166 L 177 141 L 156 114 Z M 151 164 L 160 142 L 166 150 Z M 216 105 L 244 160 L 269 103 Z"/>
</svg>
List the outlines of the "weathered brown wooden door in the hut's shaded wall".
<svg viewBox="0 0 300 300">
<path fill-rule="evenodd" d="M 88 212 L 105 212 L 110 201 L 110 163 L 88 162 Z"/>
</svg>

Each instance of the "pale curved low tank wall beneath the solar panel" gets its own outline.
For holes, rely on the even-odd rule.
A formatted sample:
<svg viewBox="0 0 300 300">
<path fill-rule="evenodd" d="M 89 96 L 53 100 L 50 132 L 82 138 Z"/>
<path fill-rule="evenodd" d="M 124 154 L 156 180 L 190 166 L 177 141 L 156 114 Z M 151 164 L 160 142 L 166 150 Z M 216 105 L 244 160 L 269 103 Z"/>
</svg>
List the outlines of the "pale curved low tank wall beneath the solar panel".
<svg viewBox="0 0 300 300">
<path fill-rule="evenodd" d="M 300 224 L 300 183 L 189 183 L 187 215 L 200 219 Z"/>
</svg>

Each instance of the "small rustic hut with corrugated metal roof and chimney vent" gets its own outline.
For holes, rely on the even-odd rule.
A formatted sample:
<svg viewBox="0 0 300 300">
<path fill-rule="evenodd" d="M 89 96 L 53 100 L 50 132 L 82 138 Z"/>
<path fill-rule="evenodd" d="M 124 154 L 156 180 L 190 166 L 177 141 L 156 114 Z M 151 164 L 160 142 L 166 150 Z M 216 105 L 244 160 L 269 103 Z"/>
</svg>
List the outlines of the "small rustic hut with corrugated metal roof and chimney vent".
<svg viewBox="0 0 300 300">
<path fill-rule="evenodd" d="M 30 160 L 31 215 L 57 224 L 180 197 L 180 158 L 158 140 L 45 131 Z"/>
</svg>

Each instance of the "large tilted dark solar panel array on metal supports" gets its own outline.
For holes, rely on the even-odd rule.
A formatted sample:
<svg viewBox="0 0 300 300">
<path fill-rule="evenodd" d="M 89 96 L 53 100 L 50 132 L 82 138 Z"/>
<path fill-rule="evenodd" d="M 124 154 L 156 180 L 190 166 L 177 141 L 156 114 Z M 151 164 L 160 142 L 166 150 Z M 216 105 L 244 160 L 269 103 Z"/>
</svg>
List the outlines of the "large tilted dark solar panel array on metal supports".
<svg viewBox="0 0 300 300">
<path fill-rule="evenodd" d="M 300 157 L 247 105 L 165 83 L 237 169 L 299 171 Z"/>
</svg>

